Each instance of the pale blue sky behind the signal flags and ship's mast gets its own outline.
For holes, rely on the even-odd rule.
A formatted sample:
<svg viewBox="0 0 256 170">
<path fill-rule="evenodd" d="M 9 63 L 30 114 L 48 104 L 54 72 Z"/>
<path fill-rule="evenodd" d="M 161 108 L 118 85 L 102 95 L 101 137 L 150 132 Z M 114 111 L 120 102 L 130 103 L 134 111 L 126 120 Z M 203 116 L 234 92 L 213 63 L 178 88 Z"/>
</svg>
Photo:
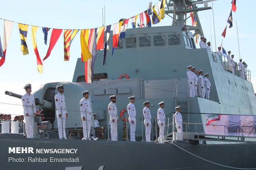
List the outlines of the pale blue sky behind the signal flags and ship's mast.
<svg viewBox="0 0 256 170">
<path fill-rule="evenodd" d="M 0 67 L 0 113 L 20 115 L 23 114 L 21 100 L 5 95 L 5 91 L 12 91 L 20 95 L 25 94 L 23 87 L 31 83 L 33 89 L 39 85 L 49 82 L 71 82 L 75 69 L 77 58 L 81 56 L 80 33 L 76 35 L 70 47 L 70 60 L 64 61 L 63 50 L 63 32 L 57 41 L 51 55 L 43 61 L 43 74 L 37 70 L 36 55 L 33 51 L 31 42 L 31 26 L 39 26 L 36 35 L 38 51 L 41 60 L 46 55 L 50 42 L 48 35 L 47 45 L 44 44 L 43 32 L 41 27 L 57 29 L 89 29 L 98 28 L 104 25 L 117 23 L 119 19 L 128 19 L 140 14 L 148 8 L 149 2 L 152 6 L 158 3 L 158 0 L 54 0 L 51 2 L 34 0 L 9 0 L 0 2 L 0 36 L 3 38 L 3 19 L 14 21 L 12 34 L 7 45 L 6 59 L 4 65 Z M 231 10 L 231 0 L 216 0 L 208 2 L 211 10 L 199 12 L 199 19 L 204 31 L 204 37 L 207 42 L 211 41 L 212 51 L 216 51 L 223 42 L 226 51 L 231 50 L 235 55 L 234 60 L 238 63 L 242 58 L 248 64 L 251 71 L 251 82 L 256 89 L 256 67 L 254 55 L 251 49 L 254 49 L 256 35 L 254 34 L 255 23 L 253 22 L 253 10 L 247 10 L 249 4 L 254 4 L 253 0 L 237 0 L 236 12 L 232 12 L 233 27 L 227 28 L 226 37 L 221 33 L 227 25 L 228 16 Z M 203 5 L 197 5 L 203 7 Z M 105 9 L 105 19 L 102 21 L 102 9 Z M 247 10 L 244 12 L 244 10 Z M 189 15 L 188 15 L 189 16 Z M 214 17 L 213 17 L 214 16 Z M 139 22 L 139 19 L 137 19 Z M 23 55 L 19 35 L 18 23 L 30 25 L 28 28 L 27 45 L 29 54 Z M 172 19 L 166 16 L 160 23 L 154 26 L 171 25 Z M 191 25 L 191 19 L 187 20 Z M 228 24 L 229 26 L 229 24 Z M 128 28 L 131 28 L 130 22 Z M 3 42 L 2 42 L 3 43 Z M 216 44 L 216 46 L 215 46 Z M 239 44 L 239 45 L 238 45 Z M 197 44 L 199 48 L 199 43 Z"/>
</svg>

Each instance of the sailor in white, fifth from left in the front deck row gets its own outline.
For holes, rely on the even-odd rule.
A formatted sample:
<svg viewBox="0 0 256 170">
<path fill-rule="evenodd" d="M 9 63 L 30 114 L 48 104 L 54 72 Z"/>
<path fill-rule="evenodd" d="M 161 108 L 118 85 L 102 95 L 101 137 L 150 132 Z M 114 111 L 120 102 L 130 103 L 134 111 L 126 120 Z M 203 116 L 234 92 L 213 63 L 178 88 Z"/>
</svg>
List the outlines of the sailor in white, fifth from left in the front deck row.
<svg viewBox="0 0 256 170">
<path fill-rule="evenodd" d="M 130 103 L 127 105 L 127 111 L 129 114 L 129 123 L 130 123 L 130 141 L 136 141 L 135 140 L 135 130 L 136 130 L 136 109 L 134 106 L 135 102 L 135 96 L 132 95 L 128 98 L 130 100 Z"/>
</svg>

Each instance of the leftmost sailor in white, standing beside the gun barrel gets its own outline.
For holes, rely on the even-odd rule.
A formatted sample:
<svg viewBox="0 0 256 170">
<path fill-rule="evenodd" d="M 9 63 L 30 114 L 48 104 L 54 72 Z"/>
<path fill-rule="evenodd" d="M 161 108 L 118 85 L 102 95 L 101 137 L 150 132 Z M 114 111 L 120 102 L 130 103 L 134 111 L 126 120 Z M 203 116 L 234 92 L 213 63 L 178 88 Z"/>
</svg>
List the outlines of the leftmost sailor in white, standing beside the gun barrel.
<svg viewBox="0 0 256 170">
<path fill-rule="evenodd" d="M 24 94 L 21 97 L 22 100 L 22 106 L 24 109 L 24 116 L 25 116 L 25 128 L 26 128 L 26 135 L 27 138 L 33 138 L 33 125 L 34 125 L 34 119 L 33 114 L 36 114 L 36 105 L 34 96 L 31 94 L 31 84 L 26 84 L 24 86 L 24 89 L 26 90 L 26 94 Z M 33 105 L 33 106 L 32 106 Z"/>
</svg>

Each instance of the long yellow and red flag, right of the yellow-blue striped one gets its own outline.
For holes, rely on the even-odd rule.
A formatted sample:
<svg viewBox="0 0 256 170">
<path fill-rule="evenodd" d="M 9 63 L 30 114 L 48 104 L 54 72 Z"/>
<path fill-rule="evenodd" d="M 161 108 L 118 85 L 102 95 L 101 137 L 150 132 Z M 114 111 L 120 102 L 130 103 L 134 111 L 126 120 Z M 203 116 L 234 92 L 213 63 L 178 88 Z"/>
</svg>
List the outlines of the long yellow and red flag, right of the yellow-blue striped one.
<svg viewBox="0 0 256 170">
<path fill-rule="evenodd" d="M 37 63 L 37 70 L 39 73 L 43 73 L 43 63 L 41 61 L 40 55 L 38 53 L 37 49 L 37 43 L 36 43 L 36 32 L 38 30 L 37 26 L 31 26 L 31 37 L 32 37 L 32 44 L 33 44 L 33 49 L 36 54 L 36 63 Z"/>
</svg>

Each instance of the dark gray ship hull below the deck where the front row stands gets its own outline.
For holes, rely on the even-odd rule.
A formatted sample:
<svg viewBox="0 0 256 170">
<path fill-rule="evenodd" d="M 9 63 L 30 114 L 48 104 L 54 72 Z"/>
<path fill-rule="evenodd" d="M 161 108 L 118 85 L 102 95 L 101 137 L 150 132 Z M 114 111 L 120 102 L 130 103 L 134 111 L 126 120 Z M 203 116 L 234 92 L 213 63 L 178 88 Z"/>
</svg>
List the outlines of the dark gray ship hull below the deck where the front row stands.
<svg viewBox="0 0 256 170">
<path fill-rule="evenodd" d="M 235 168 L 255 168 L 256 166 L 255 143 L 192 145 L 186 142 L 157 144 L 99 140 L 17 139 L 17 136 L 13 138 L 12 134 L 2 134 L 0 142 L 5 146 L 2 148 L 0 160 L 2 165 L 8 165 L 9 170 L 17 170 L 17 168 L 19 170 L 64 170 L 66 167 L 79 166 L 84 170 L 97 170 L 102 165 L 104 170 L 225 170 L 228 166 Z M 12 149 L 30 147 L 33 148 L 33 153 L 9 153 L 9 147 Z M 45 154 L 45 149 L 62 149 L 62 153 Z M 76 153 L 63 154 L 63 149 L 77 150 Z M 28 149 L 26 151 L 28 152 Z M 22 151 L 19 150 L 19 152 Z M 65 158 L 67 161 L 76 162 L 61 162 L 65 161 Z M 24 162 L 21 162 L 22 160 Z"/>
</svg>

